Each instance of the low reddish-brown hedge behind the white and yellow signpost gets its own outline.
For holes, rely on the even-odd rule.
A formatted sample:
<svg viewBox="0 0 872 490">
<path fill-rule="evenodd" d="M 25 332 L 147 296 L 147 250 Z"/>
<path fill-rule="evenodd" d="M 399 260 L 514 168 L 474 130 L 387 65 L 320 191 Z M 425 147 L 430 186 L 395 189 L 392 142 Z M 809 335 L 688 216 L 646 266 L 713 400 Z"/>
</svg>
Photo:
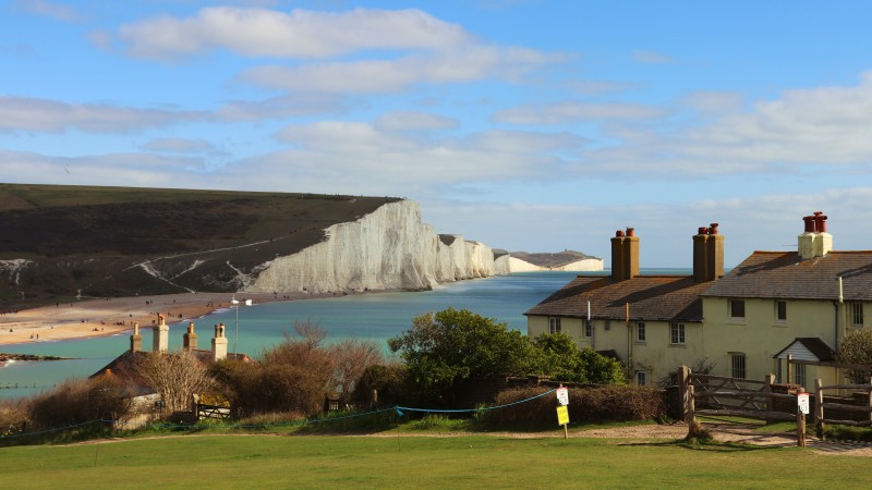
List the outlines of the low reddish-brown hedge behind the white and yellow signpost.
<svg viewBox="0 0 872 490">
<path fill-rule="evenodd" d="M 495 405 L 505 405 L 546 392 L 544 387 L 519 388 L 501 391 Z M 557 425 L 557 397 L 545 395 L 508 407 L 491 411 L 494 424 L 546 427 Z M 661 392 L 650 387 L 604 385 L 569 389 L 569 419 L 571 422 L 602 422 L 659 419 L 664 415 Z"/>
</svg>

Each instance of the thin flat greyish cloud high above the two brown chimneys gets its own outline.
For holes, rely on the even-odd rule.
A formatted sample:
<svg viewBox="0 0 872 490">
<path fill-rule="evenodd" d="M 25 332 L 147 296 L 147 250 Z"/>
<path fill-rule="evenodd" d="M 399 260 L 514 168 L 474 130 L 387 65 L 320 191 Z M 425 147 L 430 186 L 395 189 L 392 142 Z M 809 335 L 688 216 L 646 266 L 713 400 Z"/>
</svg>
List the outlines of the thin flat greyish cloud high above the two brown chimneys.
<svg viewBox="0 0 872 490">
<path fill-rule="evenodd" d="M 513 124 L 565 124 L 579 121 L 647 120 L 665 114 L 655 106 L 630 102 L 588 103 L 576 100 L 517 106 L 494 114 L 494 121 Z"/>
</svg>

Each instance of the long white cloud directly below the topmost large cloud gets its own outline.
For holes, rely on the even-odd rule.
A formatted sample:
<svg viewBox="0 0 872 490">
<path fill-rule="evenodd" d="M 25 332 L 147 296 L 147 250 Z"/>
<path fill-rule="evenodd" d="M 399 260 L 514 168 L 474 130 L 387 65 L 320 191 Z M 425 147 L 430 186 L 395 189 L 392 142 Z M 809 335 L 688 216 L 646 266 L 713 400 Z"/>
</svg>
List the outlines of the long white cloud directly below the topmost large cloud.
<svg viewBox="0 0 872 490">
<path fill-rule="evenodd" d="M 385 94 L 414 84 L 469 83 L 496 77 L 516 81 L 533 69 L 562 60 L 561 54 L 523 48 L 468 47 L 460 51 L 410 54 L 388 60 L 266 65 L 240 75 L 274 89 L 335 94 Z"/>
</svg>

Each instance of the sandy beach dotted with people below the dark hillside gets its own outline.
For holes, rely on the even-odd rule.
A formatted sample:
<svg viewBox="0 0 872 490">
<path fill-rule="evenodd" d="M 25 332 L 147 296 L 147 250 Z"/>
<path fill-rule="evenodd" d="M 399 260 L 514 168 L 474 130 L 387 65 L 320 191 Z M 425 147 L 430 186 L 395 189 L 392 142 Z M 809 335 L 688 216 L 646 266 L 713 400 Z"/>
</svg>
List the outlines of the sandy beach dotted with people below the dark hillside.
<svg viewBox="0 0 872 490">
<path fill-rule="evenodd" d="M 237 293 L 235 298 L 252 299 L 258 304 L 327 296 L 332 295 Z M 7 344 L 83 339 L 132 331 L 133 322 L 138 322 L 141 328 L 147 328 L 157 319 L 157 314 L 166 316 L 168 323 L 195 319 L 216 309 L 229 307 L 232 297 L 232 293 L 116 297 L 7 313 L 0 315 L 0 352 Z"/>
</svg>

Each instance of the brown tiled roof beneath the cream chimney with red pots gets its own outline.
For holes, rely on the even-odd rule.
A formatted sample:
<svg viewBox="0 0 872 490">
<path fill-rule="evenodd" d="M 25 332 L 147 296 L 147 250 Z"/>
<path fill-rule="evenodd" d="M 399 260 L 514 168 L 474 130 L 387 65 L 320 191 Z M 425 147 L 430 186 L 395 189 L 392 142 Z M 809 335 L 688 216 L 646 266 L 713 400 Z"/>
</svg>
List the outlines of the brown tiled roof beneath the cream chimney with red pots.
<svg viewBox="0 0 872 490">
<path fill-rule="evenodd" d="M 796 252 L 754 252 L 702 296 L 872 301 L 872 250 L 831 252 L 802 260 Z"/>
</svg>

